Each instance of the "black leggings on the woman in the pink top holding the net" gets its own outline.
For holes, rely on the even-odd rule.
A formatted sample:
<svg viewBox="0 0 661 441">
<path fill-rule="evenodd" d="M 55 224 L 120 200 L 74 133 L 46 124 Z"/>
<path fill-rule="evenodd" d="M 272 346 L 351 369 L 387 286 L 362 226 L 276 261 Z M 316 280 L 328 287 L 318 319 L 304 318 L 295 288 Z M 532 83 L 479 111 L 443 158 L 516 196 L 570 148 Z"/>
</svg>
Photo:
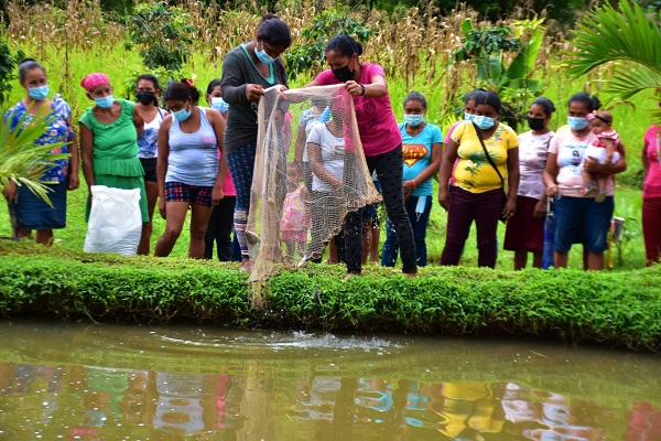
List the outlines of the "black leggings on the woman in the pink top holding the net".
<svg viewBox="0 0 661 441">
<path fill-rule="evenodd" d="M 402 272 L 418 272 L 415 239 L 404 205 L 402 146 L 386 153 L 366 157 L 366 160 L 369 173 L 376 170 L 381 184 L 386 212 L 394 226 L 400 246 Z M 365 207 L 350 212 L 345 218 L 345 256 L 347 270 L 353 273 L 360 273 L 362 269 L 362 209 Z"/>
</svg>

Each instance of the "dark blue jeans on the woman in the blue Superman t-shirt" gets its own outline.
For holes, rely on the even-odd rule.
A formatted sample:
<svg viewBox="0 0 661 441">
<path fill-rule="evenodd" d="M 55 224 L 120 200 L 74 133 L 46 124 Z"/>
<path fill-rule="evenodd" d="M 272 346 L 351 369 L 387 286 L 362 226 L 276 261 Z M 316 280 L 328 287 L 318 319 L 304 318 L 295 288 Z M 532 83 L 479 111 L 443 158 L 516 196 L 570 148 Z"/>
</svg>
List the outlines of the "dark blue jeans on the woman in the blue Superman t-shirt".
<svg viewBox="0 0 661 441">
<path fill-rule="evenodd" d="M 418 201 L 425 200 L 424 211 L 420 214 L 415 213 Z M 419 267 L 426 266 L 426 226 L 432 212 L 432 196 L 411 196 L 407 202 L 407 213 L 413 228 L 413 239 L 415 241 L 415 258 Z M 386 243 L 381 251 L 381 266 L 394 267 L 399 245 L 397 243 L 397 230 L 390 218 L 386 219 Z"/>
</svg>

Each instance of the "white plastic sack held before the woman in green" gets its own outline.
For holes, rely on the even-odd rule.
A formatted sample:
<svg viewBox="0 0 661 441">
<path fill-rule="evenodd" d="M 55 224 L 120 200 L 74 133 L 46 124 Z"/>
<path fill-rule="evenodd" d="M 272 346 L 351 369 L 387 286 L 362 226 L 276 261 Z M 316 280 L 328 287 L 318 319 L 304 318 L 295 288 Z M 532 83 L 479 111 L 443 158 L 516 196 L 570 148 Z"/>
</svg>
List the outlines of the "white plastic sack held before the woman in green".
<svg viewBox="0 0 661 441">
<path fill-rule="evenodd" d="M 134 256 L 142 234 L 140 189 L 91 186 L 91 211 L 85 252 L 119 252 Z"/>
</svg>

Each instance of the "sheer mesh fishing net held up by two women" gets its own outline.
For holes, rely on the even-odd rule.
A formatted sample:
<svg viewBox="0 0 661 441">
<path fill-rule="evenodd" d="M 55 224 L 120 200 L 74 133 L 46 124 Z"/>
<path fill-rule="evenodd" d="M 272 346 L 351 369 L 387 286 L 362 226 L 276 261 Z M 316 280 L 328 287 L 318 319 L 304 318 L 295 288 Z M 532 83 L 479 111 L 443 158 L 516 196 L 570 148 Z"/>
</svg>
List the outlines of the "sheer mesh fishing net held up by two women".
<svg viewBox="0 0 661 441">
<path fill-rule="evenodd" d="M 252 280 L 321 261 L 347 213 L 381 201 L 343 85 L 266 90 L 247 238 Z"/>
</svg>

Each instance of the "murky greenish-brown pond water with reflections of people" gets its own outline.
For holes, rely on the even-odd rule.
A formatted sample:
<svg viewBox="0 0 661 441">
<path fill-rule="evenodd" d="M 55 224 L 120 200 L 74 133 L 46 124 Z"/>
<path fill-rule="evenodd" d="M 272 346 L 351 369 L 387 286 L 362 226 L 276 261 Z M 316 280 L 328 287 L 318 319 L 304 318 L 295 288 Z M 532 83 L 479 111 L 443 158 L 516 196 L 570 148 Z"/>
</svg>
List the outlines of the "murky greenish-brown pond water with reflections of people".
<svg viewBox="0 0 661 441">
<path fill-rule="evenodd" d="M 0 440 L 661 440 L 661 356 L 0 321 Z"/>
</svg>

